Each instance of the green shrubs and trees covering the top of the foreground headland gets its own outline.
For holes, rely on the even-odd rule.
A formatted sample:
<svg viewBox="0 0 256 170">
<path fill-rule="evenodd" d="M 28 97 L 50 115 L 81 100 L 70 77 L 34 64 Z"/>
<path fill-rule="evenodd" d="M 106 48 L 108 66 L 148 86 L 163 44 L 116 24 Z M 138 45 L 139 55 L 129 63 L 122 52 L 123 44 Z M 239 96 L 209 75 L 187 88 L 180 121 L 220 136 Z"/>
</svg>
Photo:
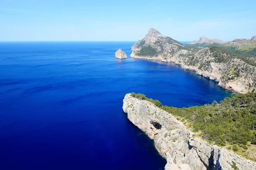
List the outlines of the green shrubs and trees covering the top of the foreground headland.
<svg viewBox="0 0 256 170">
<path fill-rule="evenodd" d="M 256 144 L 256 93 L 225 97 L 221 103 L 214 101 L 211 105 L 189 108 L 163 106 L 158 100 L 142 97 L 142 94 L 133 93 L 132 96 L 148 100 L 173 116 L 186 119 L 209 142 L 233 144 L 233 150 L 237 144 L 244 149 L 247 149 L 248 142 Z"/>
</svg>

